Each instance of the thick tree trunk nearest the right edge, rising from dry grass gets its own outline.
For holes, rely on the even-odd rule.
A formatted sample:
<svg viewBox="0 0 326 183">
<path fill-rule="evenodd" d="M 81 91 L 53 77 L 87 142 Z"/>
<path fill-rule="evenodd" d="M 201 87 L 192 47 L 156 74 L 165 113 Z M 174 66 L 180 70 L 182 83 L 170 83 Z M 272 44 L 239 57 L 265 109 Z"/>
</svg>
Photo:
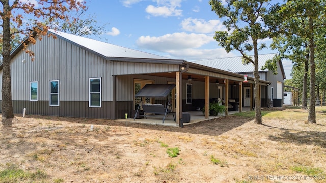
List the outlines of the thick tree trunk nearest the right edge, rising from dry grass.
<svg viewBox="0 0 326 183">
<path fill-rule="evenodd" d="M 315 75 L 315 43 L 313 35 L 313 20 L 309 17 L 309 52 L 310 52 L 310 100 L 309 100 L 309 112 L 308 112 L 308 123 L 316 123 L 316 75 Z"/>
</svg>

